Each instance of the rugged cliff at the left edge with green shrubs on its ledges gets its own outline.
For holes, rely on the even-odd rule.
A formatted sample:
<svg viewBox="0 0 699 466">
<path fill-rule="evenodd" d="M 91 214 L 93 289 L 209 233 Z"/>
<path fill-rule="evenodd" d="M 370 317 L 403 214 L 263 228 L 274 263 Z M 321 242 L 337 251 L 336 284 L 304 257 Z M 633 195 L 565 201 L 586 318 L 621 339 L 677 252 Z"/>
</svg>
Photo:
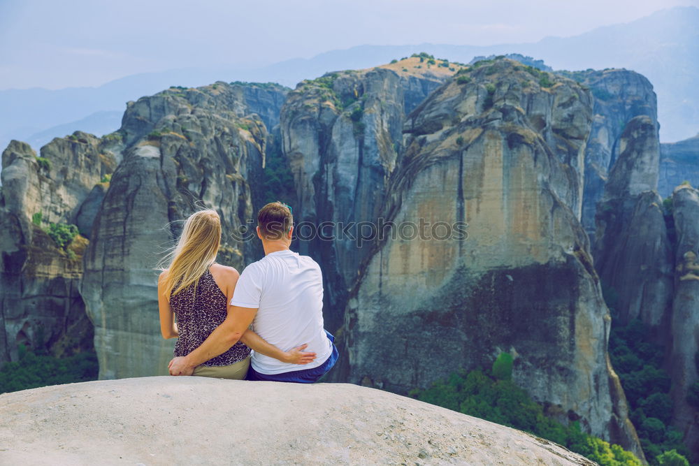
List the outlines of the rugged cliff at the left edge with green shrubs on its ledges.
<svg viewBox="0 0 699 466">
<path fill-rule="evenodd" d="M 92 224 L 94 214 L 81 216 L 80 208 L 115 159 L 99 139 L 76 132 L 42 147 L 41 158 L 13 141 L 2 165 L 0 363 L 16 357 L 17 344 L 45 344 L 56 354 L 89 347 L 92 328 L 78 293 L 87 240 L 78 236 L 64 250 L 44 229 L 78 217 Z"/>
</svg>

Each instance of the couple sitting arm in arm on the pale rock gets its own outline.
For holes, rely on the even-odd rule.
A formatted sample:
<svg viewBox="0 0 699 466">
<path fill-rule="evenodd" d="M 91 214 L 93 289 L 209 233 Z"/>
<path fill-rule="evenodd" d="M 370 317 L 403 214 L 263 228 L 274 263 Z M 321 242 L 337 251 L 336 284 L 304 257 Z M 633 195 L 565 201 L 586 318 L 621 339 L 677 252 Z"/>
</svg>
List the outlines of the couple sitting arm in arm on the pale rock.
<svg viewBox="0 0 699 466">
<path fill-rule="evenodd" d="M 171 375 L 313 383 L 335 365 L 338 349 L 323 328 L 320 267 L 289 250 L 291 209 L 269 203 L 257 222 L 266 255 L 242 274 L 215 262 L 215 210 L 185 222 L 158 280 L 161 333 L 178 338 Z"/>
</svg>

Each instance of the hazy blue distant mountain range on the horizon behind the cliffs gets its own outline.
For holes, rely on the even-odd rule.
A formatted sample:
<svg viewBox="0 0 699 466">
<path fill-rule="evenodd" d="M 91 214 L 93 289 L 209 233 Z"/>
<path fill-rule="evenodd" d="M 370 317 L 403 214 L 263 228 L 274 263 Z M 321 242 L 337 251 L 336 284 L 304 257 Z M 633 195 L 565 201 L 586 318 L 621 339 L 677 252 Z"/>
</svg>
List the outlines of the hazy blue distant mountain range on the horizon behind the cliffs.
<svg viewBox="0 0 699 466">
<path fill-rule="evenodd" d="M 640 20 L 600 27 L 568 38 L 489 46 L 360 45 L 290 59 L 256 69 L 185 68 L 143 73 L 100 87 L 8 89 L 0 91 L 0 148 L 10 139 L 38 149 L 76 129 L 100 136 L 120 126 L 127 101 L 172 85 L 199 86 L 216 80 L 278 82 L 295 87 L 328 71 L 368 68 L 415 52 L 468 63 L 477 56 L 521 53 L 554 70 L 627 68 L 645 75 L 658 95 L 661 140 L 672 142 L 699 132 L 699 8 L 675 7 Z"/>
</svg>

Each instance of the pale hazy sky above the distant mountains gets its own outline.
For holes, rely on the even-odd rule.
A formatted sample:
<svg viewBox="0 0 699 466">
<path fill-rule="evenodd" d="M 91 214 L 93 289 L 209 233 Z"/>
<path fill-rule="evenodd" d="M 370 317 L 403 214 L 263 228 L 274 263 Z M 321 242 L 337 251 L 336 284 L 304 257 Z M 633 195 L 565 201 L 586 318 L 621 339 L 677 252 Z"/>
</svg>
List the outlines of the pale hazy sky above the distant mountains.
<svg viewBox="0 0 699 466">
<path fill-rule="evenodd" d="M 575 36 L 699 0 L 0 0 L 0 89 L 254 67 L 354 45 Z"/>
</svg>

